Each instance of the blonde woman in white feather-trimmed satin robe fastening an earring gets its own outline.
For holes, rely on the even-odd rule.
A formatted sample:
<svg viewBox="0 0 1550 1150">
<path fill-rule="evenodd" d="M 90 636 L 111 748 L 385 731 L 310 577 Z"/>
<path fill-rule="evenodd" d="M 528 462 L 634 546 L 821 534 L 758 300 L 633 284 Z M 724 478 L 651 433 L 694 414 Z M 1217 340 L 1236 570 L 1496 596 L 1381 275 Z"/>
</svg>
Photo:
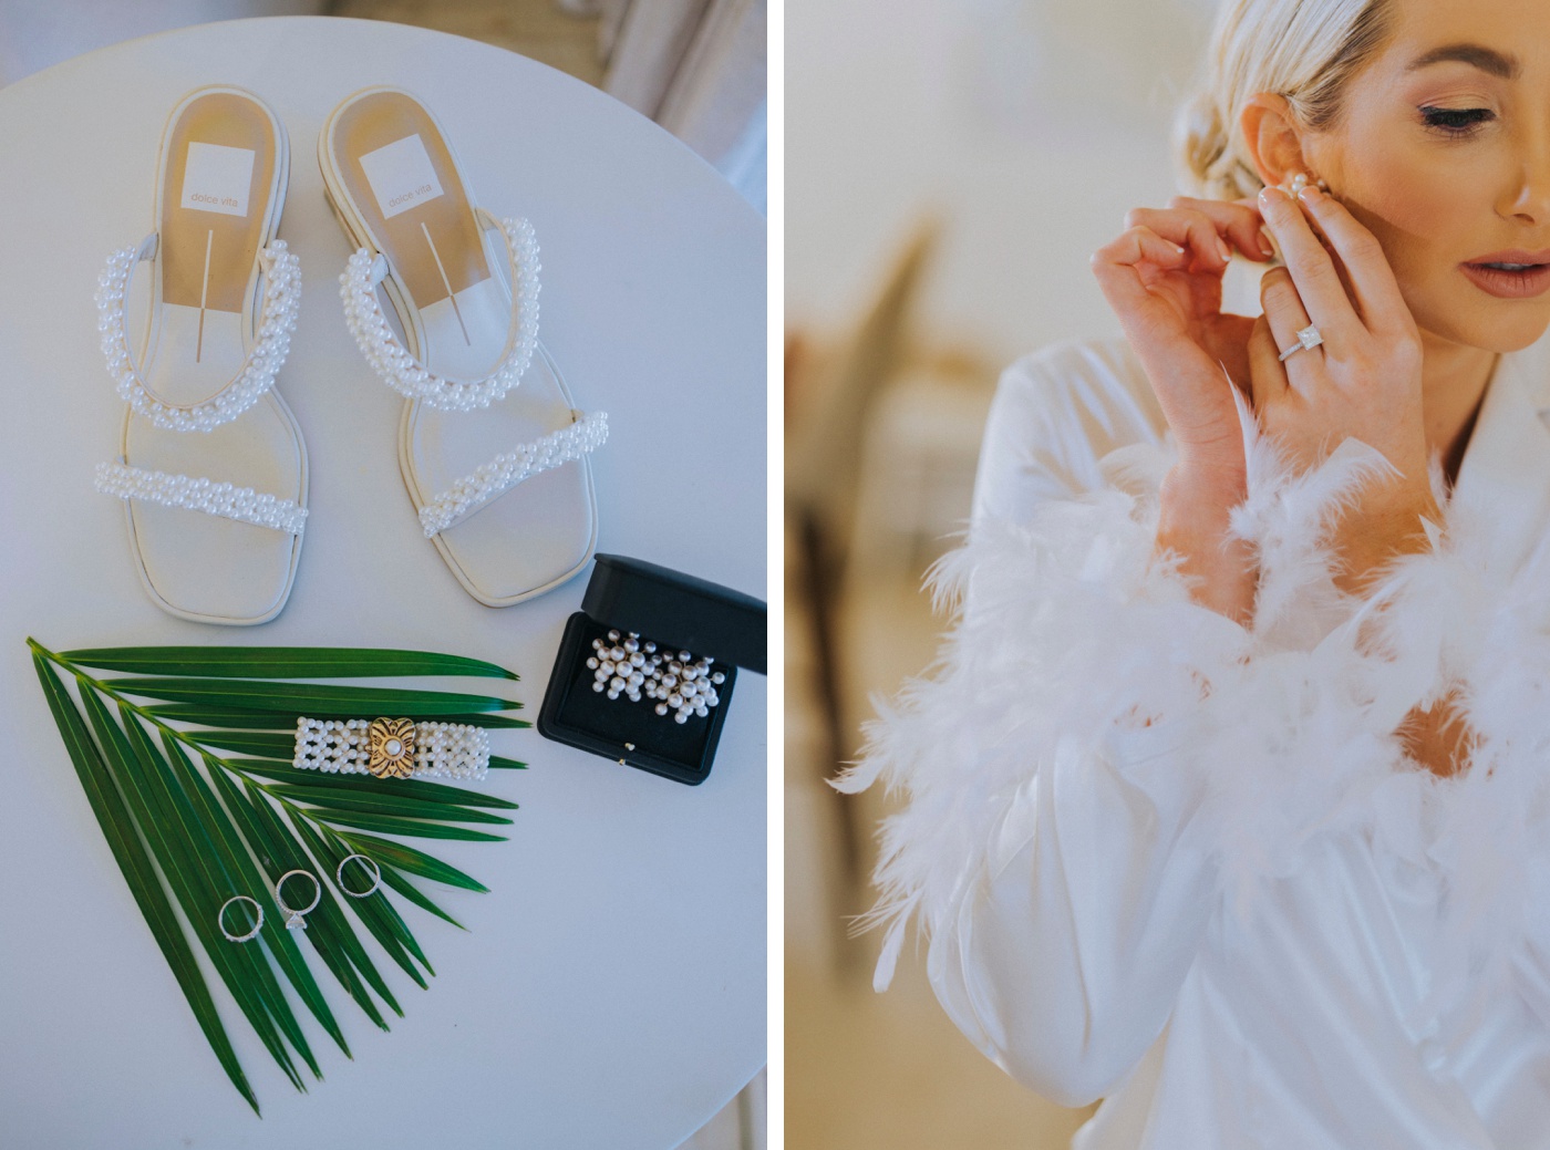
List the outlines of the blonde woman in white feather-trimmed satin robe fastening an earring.
<svg viewBox="0 0 1550 1150">
<path fill-rule="evenodd" d="M 1085 1150 L 1550 1147 L 1550 5 L 1229 0 L 1211 65 L 842 781 L 908 798 L 877 983 L 918 919 Z"/>
</svg>

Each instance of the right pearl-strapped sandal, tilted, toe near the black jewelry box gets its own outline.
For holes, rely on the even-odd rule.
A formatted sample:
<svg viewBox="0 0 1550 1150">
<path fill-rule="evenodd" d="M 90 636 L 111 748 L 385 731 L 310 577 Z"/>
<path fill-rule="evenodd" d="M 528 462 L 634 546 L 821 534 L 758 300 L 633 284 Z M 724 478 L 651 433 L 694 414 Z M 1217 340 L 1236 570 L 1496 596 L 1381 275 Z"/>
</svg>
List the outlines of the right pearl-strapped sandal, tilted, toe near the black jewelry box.
<svg viewBox="0 0 1550 1150">
<path fill-rule="evenodd" d="M 339 277 L 346 322 L 406 397 L 398 467 L 422 530 L 480 603 L 558 587 L 597 546 L 587 456 L 608 417 L 577 409 L 538 343 L 532 226 L 474 206 L 446 133 L 398 88 L 339 104 L 318 163 L 358 248 Z"/>
</svg>

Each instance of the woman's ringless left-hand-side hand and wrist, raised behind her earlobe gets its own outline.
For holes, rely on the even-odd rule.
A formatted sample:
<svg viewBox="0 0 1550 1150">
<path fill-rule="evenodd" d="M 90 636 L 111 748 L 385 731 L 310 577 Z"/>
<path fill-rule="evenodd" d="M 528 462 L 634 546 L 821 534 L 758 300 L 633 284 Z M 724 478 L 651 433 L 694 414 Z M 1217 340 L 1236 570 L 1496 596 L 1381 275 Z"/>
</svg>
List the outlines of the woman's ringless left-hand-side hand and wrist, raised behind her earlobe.
<svg viewBox="0 0 1550 1150">
<path fill-rule="evenodd" d="M 1093 256 L 1093 273 L 1119 316 L 1178 443 L 1161 491 L 1158 547 L 1183 556 L 1198 603 L 1248 621 L 1254 569 L 1229 530 L 1246 496 L 1243 432 L 1231 380 L 1248 381 L 1254 321 L 1221 313 L 1221 274 L 1237 248 L 1271 257 L 1249 203 L 1173 200 L 1138 208 L 1125 231 Z"/>
</svg>

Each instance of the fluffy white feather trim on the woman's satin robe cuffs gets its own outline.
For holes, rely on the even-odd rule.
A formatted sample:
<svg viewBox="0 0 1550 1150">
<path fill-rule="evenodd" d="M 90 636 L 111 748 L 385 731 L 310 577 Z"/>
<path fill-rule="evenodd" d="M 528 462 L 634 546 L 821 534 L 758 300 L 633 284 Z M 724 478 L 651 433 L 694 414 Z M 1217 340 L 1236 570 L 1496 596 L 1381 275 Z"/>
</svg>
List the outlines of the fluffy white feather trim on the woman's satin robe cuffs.
<svg viewBox="0 0 1550 1150">
<path fill-rule="evenodd" d="M 1228 913 L 1249 913 L 1322 835 L 1431 866 L 1434 1017 L 1493 992 L 1525 938 L 1550 952 L 1550 914 L 1522 882 L 1550 868 L 1550 541 L 1508 563 L 1490 508 L 1455 499 L 1434 550 L 1356 600 L 1335 587 L 1325 535 L 1387 463 L 1347 442 L 1294 476 L 1248 420 L 1245 442 L 1249 498 L 1232 524 L 1262 566 L 1252 631 L 1194 604 L 1176 563 L 1153 555 L 1161 448 L 1105 460 L 1111 482 L 1150 482 L 1048 502 L 1026 525 L 980 522 L 935 569 L 955 608 L 939 660 L 879 705 L 862 761 L 835 781 L 908 795 L 884 825 L 866 919 L 887 927 L 879 989 L 911 916 L 944 928 L 1028 842 L 1017 812 L 1057 753 L 1172 786 L 1166 806 L 1215 845 Z M 1449 691 L 1471 766 L 1417 776 L 1395 727 Z"/>
</svg>

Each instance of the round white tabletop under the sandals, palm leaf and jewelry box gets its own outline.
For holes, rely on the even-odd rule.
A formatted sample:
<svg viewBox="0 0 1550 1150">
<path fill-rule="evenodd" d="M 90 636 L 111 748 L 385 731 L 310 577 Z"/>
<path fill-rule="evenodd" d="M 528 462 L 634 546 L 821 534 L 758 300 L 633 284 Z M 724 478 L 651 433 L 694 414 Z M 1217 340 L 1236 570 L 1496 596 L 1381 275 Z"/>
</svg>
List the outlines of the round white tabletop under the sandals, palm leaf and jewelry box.
<svg viewBox="0 0 1550 1150">
<path fill-rule="evenodd" d="M 259 93 L 291 139 L 281 237 L 305 287 L 281 389 L 308 443 L 312 518 L 290 604 L 260 628 L 158 611 L 121 505 L 91 490 L 122 412 L 98 350 L 96 276 L 152 229 L 167 112 L 205 84 Z M 485 784 L 521 803 L 510 842 L 420 843 L 491 893 L 432 891 L 467 933 L 400 904 L 437 976 L 422 992 L 374 950 L 406 1014 L 391 1034 L 312 959 L 355 1059 L 302 1017 L 326 1074 L 310 1093 L 215 981 L 262 1119 L 198 1031 L 48 714 L 26 635 L 56 651 L 450 651 L 519 671 L 536 716 L 591 567 L 516 608 L 468 598 L 398 477 L 398 398 L 341 318 L 347 246 L 313 149 L 333 105 L 375 84 L 415 91 L 479 200 L 538 231 L 541 338 L 612 429 L 594 460 L 598 550 L 766 597 L 764 225 L 646 119 L 482 43 L 305 17 L 135 40 L 0 90 L 0 1145 L 663 1150 L 764 1062 L 761 676 L 739 677 L 699 787 L 498 732 L 498 753 L 532 764 Z M 704 476 L 693 508 L 671 496 L 674 457 L 677 474 Z"/>
</svg>

